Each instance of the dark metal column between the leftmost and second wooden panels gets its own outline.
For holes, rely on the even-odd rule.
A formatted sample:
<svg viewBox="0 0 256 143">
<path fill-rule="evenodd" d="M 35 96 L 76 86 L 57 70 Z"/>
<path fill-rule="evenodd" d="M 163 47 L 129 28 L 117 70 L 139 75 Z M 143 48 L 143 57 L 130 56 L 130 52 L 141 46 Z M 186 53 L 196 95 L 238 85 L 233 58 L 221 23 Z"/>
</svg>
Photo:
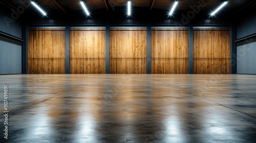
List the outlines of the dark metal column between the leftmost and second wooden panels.
<svg viewBox="0 0 256 143">
<path fill-rule="evenodd" d="M 69 46 L 70 46 L 70 24 L 69 20 L 66 21 L 66 31 L 65 31 L 65 36 L 66 36 L 66 56 L 65 56 L 65 69 L 66 69 L 66 74 L 70 74 L 70 61 L 69 61 Z"/>
</svg>

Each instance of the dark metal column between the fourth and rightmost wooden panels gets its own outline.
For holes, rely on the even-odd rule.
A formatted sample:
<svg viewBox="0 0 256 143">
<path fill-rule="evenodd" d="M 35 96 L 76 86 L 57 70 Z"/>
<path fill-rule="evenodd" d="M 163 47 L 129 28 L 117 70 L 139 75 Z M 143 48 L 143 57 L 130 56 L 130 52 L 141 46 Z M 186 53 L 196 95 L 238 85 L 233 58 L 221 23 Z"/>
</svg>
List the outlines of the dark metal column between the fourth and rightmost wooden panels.
<svg viewBox="0 0 256 143">
<path fill-rule="evenodd" d="M 188 74 L 193 74 L 193 24 L 188 26 Z"/>
</svg>

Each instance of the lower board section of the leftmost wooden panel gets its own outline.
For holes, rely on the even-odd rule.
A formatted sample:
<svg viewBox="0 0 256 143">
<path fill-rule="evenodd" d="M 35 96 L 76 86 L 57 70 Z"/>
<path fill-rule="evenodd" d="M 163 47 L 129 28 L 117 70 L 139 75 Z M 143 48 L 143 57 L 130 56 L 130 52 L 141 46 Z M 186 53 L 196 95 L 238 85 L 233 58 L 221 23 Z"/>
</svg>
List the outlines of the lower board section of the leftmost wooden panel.
<svg viewBox="0 0 256 143">
<path fill-rule="evenodd" d="M 65 74 L 65 58 L 29 58 L 28 74 Z"/>
</svg>

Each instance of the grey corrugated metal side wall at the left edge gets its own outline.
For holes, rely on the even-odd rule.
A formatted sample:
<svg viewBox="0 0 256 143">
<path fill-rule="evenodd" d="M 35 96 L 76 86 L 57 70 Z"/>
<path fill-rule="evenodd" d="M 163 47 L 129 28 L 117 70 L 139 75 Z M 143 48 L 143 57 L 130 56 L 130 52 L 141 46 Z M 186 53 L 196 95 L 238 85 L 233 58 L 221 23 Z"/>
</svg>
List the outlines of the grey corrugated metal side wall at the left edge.
<svg viewBox="0 0 256 143">
<path fill-rule="evenodd" d="M 0 32 L 22 38 L 22 23 L 12 19 L 12 11 L 0 6 Z M 0 35 L 0 75 L 22 74 L 22 42 Z"/>
</svg>

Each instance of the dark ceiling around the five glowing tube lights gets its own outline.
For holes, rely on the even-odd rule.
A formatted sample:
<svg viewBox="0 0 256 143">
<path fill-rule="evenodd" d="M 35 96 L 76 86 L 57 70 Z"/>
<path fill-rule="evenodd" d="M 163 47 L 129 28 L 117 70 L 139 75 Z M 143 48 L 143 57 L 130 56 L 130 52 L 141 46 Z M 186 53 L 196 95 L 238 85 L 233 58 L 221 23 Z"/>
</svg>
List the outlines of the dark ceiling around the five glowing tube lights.
<svg viewBox="0 0 256 143">
<path fill-rule="evenodd" d="M 2 0 L 0 4 L 9 8 L 11 11 L 11 9 L 23 6 L 22 2 L 25 1 L 29 2 L 28 0 Z M 86 17 L 80 5 L 80 0 L 35 0 L 34 2 L 46 11 L 47 17 Z M 132 16 L 141 13 L 168 16 L 168 12 L 174 2 L 175 0 L 132 0 Z M 199 6 L 200 2 L 203 2 L 201 7 Z M 85 0 L 84 3 L 92 18 L 97 14 L 125 15 L 127 11 L 127 0 Z M 172 17 L 182 17 L 182 14 L 187 15 L 189 11 L 194 11 L 195 9 L 197 9 L 196 12 L 198 12 L 197 16 L 209 17 L 210 13 L 222 3 L 223 1 L 221 0 L 180 0 Z M 249 7 L 255 7 L 255 5 L 255 0 L 229 0 L 225 8 L 221 9 L 216 14 L 216 17 L 232 16 Z M 30 5 L 28 9 L 25 9 L 25 13 L 27 16 L 42 17 L 41 13 L 32 5 Z"/>
</svg>

